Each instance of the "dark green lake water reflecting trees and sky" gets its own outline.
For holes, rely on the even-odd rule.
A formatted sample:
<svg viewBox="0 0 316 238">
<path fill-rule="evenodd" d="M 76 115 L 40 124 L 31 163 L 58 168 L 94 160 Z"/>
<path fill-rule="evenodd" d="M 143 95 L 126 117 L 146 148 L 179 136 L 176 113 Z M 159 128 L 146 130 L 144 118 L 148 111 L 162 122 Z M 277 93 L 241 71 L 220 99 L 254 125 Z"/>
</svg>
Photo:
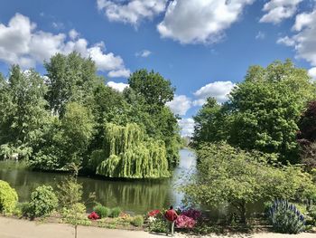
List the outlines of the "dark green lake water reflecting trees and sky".
<svg viewBox="0 0 316 238">
<path fill-rule="evenodd" d="M 107 180 L 80 176 L 83 185 L 83 199 L 87 200 L 91 192 L 96 193 L 96 201 L 109 207 L 120 206 L 126 212 L 145 214 L 149 210 L 168 205 L 181 205 L 182 195 L 177 191 L 179 184 L 185 183 L 182 175 L 193 173 L 196 167 L 194 152 L 181 149 L 180 164 L 168 179 L 159 180 Z M 29 200 L 31 192 L 37 186 L 56 186 L 64 179 L 65 174 L 34 172 L 8 165 L 12 162 L 0 162 L 0 179 L 7 181 L 15 188 L 19 201 Z M 88 210 L 92 205 L 87 205 Z"/>
</svg>

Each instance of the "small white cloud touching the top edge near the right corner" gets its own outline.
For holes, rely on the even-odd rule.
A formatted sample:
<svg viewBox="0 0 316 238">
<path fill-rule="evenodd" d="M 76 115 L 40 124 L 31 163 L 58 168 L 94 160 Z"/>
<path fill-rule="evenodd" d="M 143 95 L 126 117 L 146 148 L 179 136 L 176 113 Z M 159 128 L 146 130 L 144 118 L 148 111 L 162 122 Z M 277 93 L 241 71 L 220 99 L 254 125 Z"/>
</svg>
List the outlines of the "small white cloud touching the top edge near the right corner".
<svg viewBox="0 0 316 238">
<path fill-rule="evenodd" d="M 303 0 L 270 0 L 264 5 L 263 11 L 266 14 L 260 19 L 260 23 L 279 24 L 284 19 L 292 17 L 296 11 L 297 6 Z"/>
</svg>

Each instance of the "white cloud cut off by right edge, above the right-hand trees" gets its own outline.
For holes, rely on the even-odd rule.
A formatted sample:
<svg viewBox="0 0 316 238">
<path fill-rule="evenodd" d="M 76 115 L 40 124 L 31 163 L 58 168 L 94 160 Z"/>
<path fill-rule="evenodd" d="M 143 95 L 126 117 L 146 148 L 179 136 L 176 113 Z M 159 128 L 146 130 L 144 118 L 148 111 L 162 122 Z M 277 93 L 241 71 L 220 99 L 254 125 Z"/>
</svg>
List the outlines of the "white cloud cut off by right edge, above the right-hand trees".
<svg viewBox="0 0 316 238">
<path fill-rule="evenodd" d="M 316 9 L 311 13 L 298 14 L 293 25 L 292 36 L 280 38 L 277 42 L 292 46 L 296 57 L 306 60 L 313 67 L 310 75 L 314 76 L 316 67 Z"/>
</svg>

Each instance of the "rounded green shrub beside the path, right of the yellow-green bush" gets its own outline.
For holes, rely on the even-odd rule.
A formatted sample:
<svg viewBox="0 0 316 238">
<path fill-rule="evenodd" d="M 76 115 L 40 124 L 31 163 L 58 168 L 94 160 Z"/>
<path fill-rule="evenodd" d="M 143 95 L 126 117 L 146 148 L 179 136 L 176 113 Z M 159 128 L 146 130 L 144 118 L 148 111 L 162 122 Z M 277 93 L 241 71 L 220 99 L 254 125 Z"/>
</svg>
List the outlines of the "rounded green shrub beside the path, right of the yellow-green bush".
<svg viewBox="0 0 316 238">
<path fill-rule="evenodd" d="M 58 206 L 58 198 L 51 186 L 39 186 L 31 194 L 30 215 L 33 217 L 50 215 Z"/>
</svg>

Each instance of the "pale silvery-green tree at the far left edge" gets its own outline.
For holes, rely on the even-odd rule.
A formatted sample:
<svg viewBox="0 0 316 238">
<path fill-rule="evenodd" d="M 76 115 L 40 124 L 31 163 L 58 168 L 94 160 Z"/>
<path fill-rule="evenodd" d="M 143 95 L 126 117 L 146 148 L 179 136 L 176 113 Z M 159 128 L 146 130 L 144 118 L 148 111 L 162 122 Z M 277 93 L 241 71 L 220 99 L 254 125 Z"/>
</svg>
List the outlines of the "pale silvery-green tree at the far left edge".
<svg viewBox="0 0 316 238">
<path fill-rule="evenodd" d="M 8 83 L 0 80 L 0 103 L 3 111 L 0 119 L 2 144 L 7 144 L 20 157 L 30 157 L 32 148 L 48 122 L 45 110 L 46 86 L 39 73 L 21 71 L 14 65 Z"/>
</svg>

